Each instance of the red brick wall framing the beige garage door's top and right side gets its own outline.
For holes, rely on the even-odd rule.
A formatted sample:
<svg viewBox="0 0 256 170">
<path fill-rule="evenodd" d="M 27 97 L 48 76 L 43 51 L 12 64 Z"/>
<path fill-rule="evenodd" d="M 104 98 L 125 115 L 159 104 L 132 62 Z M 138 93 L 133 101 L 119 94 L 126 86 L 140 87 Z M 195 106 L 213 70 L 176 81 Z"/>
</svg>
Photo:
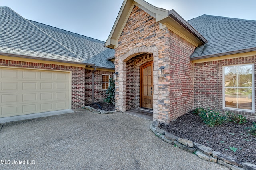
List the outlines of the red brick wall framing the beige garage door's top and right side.
<svg viewBox="0 0 256 170">
<path fill-rule="evenodd" d="M 0 66 L 13 66 L 20 68 L 35 68 L 45 70 L 62 70 L 72 72 L 71 78 L 71 109 L 84 107 L 84 68 L 63 66 L 55 64 L 32 63 L 24 61 L 11 61 L 0 59 Z"/>
</svg>

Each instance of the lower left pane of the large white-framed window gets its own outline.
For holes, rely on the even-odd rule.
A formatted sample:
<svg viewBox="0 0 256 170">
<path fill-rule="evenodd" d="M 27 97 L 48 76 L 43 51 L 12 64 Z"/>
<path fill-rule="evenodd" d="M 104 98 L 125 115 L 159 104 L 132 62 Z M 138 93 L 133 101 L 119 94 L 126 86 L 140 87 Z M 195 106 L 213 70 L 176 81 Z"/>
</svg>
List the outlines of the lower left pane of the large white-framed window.
<svg viewBox="0 0 256 170">
<path fill-rule="evenodd" d="M 225 88 L 225 106 L 237 108 L 237 89 Z"/>
</svg>

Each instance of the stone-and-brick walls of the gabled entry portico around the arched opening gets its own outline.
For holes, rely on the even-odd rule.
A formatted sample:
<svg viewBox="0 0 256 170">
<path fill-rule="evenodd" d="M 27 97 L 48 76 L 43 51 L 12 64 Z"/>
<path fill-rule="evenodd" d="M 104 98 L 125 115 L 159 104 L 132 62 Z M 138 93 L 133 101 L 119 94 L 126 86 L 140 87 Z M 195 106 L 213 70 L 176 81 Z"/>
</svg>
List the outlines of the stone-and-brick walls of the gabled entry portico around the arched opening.
<svg viewBox="0 0 256 170">
<path fill-rule="evenodd" d="M 184 95 L 190 95 L 192 91 L 189 82 L 192 80 L 192 64 L 189 57 L 194 48 L 168 28 L 160 30 L 155 18 L 134 6 L 115 49 L 115 69 L 119 73 L 116 81 L 116 109 L 127 109 L 126 63 L 140 54 L 153 55 L 153 119 L 168 123 L 192 109 L 193 98 L 185 98 Z M 165 67 L 164 78 L 157 77 L 160 66 Z M 182 70 L 182 76 L 176 72 L 177 68 Z M 179 84 L 170 84 L 178 79 L 181 81 Z M 183 93 L 182 98 L 179 97 L 180 92 Z"/>
</svg>

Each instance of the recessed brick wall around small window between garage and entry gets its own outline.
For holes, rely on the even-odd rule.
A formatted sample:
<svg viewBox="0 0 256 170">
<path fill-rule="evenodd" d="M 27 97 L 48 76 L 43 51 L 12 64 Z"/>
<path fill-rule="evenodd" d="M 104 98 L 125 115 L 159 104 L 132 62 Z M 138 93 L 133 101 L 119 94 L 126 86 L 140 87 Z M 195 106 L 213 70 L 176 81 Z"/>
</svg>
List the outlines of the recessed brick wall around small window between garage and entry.
<svg viewBox="0 0 256 170">
<path fill-rule="evenodd" d="M 85 70 L 85 103 L 92 103 L 92 71 Z M 110 75 L 113 78 L 114 70 L 111 71 L 99 71 L 94 72 L 94 102 L 103 102 L 108 97 L 106 90 L 102 90 L 102 74 Z"/>
</svg>

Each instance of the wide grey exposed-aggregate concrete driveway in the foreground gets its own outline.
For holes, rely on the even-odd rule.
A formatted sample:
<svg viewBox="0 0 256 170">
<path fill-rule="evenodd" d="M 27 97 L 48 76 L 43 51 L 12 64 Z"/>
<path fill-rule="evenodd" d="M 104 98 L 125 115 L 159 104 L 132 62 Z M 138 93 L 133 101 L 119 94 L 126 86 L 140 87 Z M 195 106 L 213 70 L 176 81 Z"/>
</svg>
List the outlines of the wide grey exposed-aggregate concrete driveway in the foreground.
<svg viewBox="0 0 256 170">
<path fill-rule="evenodd" d="M 228 170 L 158 139 L 151 123 L 89 111 L 1 123 L 0 169 Z"/>
</svg>

